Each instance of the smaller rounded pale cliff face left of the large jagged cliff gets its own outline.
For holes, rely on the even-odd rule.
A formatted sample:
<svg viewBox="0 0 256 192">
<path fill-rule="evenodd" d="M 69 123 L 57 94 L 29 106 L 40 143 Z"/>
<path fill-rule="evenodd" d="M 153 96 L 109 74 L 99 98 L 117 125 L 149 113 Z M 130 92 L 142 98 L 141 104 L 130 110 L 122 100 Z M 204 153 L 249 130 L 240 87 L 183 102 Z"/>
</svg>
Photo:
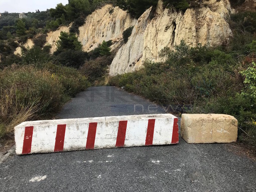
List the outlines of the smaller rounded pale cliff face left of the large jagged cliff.
<svg viewBox="0 0 256 192">
<path fill-rule="evenodd" d="M 86 18 L 85 24 L 79 28 L 78 40 L 82 43 L 83 51 L 89 52 L 103 41 L 120 41 L 123 31 L 135 24 L 136 20 L 126 12 L 106 5 Z"/>
</svg>

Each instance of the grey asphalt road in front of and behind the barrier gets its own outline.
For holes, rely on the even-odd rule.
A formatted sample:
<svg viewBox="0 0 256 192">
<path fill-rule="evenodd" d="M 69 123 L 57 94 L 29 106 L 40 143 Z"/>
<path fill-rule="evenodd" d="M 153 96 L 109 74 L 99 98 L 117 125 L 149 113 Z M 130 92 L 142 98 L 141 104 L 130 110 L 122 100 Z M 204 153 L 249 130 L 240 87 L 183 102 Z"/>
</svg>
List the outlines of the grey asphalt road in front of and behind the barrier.
<svg viewBox="0 0 256 192">
<path fill-rule="evenodd" d="M 89 88 L 57 118 L 164 113 L 114 87 Z M 256 162 L 232 144 L 187 144 L 10 156 L 0 191 L 256 191 Z"/>
</svg>

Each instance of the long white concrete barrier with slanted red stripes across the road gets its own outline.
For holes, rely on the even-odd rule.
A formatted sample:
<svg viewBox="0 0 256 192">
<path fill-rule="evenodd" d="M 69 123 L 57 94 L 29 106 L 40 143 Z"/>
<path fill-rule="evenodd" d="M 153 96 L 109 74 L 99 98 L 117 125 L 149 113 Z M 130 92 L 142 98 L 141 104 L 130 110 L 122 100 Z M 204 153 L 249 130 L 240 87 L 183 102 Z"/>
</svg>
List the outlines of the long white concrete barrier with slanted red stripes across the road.
<svg viewBox="0 0 256 192">
<path fill-rule="evenodd" d="M 17 154 L 176 144 L 171 114 L 29 121 L 15 127 Z"/>
</svg>

